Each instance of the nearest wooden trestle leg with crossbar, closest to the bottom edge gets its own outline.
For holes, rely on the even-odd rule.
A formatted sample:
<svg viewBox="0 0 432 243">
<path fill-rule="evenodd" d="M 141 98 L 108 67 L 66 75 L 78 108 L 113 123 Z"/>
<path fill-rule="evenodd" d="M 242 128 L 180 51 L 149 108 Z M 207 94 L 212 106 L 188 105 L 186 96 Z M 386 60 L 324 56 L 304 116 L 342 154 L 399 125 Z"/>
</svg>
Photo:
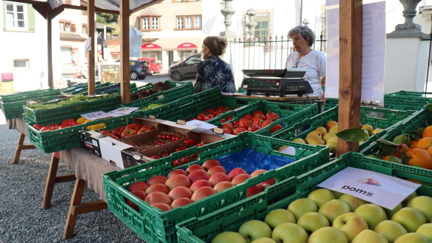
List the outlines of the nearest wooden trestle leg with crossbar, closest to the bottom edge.
<svg viewBox="0 0 432 243">
<path fill-rule="evenodd" d="M 106 209 L 107 205 L 102 200 L 96 200 L 88 203 L 81 203 L 84 193 L 85 180 L 76 178 L 74 192 L 72 194 L 71 204 L 69 206 L 68 217 L 66 218 L 63 238 L 69 239 L 74 236 L 75 225 L 79 214 L 90 213 Z"/>
</svg>

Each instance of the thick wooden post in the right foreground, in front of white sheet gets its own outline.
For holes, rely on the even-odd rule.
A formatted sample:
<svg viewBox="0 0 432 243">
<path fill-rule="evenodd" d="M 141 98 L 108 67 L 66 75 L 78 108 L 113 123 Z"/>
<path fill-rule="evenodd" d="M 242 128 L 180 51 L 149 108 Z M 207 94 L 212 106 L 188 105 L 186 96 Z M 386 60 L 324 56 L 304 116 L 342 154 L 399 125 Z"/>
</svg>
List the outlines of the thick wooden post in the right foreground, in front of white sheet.
<svg viewBox="0 0 432 243">
<path fill-rule="evenodd" d="M 358 128 L 361 98 L 362 0 L 339 2 L 339 131 Z M 358 142 L 338 139 L 338 155 Z"/>
</svg>

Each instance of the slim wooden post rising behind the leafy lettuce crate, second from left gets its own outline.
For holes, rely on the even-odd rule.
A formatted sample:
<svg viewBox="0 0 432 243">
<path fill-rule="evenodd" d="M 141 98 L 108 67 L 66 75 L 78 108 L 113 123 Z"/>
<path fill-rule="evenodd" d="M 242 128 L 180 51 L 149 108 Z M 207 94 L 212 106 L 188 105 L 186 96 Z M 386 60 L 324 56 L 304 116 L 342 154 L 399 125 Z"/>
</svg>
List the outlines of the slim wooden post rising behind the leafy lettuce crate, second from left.
<svg viewBox="0 0 432 243">
<path fill-rule="evenodd" d="M 88 80 L 88 95 L 92 95 L 95 92 L 94 88 L 94 0 L 87 1 L 87 21 L 88 21 L 88 37 L 91 39 L 90 46 L 91 49 L 87 53 L 87 80 Z"/>
</svg>

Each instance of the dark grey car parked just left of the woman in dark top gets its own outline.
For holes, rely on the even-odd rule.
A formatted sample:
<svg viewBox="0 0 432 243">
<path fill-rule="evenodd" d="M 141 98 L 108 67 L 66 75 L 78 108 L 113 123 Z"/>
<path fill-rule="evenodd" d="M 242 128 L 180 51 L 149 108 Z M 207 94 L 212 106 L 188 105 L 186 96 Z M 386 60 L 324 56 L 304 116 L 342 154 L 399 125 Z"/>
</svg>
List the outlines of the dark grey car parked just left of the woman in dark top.
<svg viewBox="0 0 432 243">
<path fill-rule="evenodd" d="M 177 63 L 169 68 L 168 74 L 175 81 L 196 77 L 196 66 L 201 62 L 201 53 L 193 54 L 183 62 Z"/>
</svg>

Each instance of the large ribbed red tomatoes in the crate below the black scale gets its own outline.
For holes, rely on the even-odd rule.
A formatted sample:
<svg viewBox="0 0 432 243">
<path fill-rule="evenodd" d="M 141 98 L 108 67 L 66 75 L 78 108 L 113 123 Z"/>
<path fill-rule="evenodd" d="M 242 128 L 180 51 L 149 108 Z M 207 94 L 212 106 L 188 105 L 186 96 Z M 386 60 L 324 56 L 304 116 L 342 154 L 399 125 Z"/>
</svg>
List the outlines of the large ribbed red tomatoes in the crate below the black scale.
<svg viewBox="0 0 432 243">
<path fill-rule="evenodd" d="M 251 115 L 245 114 L 239 120 L 232 121 L 232 119 L 230 119 L 230 121 L 227 122 L 227 120 L 222 119 L 221 123 L 223 123 L 223 125 L 221 128 L 224 130 L 224 133 L 237 135 L 246 131 L 255 132 L 270 125 L 273 121 L 278 119 L 279 115 L 271 110 L 269 110 L 265 115 L 264 112 L 255 110 Z M 272 127 L 270 132 L 274 133 L 280 129 L 282 129 L 282 125 L 278 124 Z"/>
</svg>

